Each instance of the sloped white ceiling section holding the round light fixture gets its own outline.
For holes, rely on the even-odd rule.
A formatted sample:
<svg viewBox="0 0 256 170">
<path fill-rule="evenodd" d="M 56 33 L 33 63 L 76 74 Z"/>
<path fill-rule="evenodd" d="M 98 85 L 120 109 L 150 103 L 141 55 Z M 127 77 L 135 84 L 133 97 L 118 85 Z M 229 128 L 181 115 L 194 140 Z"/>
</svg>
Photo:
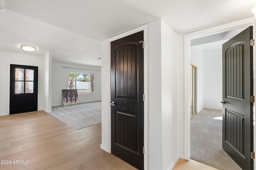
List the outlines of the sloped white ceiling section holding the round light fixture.
<svg viewBox="0 0 256 170">
<path fill-rule="evenodd" d="M 35 45 L 37 49 L 23 51 L 22 44 Z M 101 41 L 9 10 L 0 11 L 0 51 L 37 56 L 52 51 L 54 62 L 101 65 Z"/>
</svg>

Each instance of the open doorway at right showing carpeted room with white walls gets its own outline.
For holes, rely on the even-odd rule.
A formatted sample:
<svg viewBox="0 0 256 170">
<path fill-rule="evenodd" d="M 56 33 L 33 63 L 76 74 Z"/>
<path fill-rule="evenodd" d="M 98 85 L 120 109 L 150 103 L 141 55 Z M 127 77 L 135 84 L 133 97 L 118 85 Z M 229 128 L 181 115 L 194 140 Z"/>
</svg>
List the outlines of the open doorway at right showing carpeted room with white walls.
<svg viewBox="0 0 256 170">
<path fill-rule="evenodd" d="M 190 120 L 190 156 L 194 160 L 218 169 L 241 169 L 222 149 L 220 101 L 222 101 L 222 44 L 228 41 L 229 36 L 231 38 L 243 29 L 191 40 L 190 63 L 197 66 L 195 107 L 198 114 Z M 192 73 L 190 76 L 193 76 Z M 190 80 L 192 78 L 190 77 Z"/>
</svg>

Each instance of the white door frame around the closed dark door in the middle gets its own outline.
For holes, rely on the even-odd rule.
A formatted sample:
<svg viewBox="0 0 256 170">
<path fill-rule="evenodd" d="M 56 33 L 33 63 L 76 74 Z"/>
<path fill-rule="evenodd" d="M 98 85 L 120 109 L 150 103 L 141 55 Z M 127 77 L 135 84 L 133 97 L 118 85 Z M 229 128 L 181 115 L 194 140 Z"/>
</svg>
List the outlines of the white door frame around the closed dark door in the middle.
<svg viewBox="0 0 256 170">
<path fill-rule="evenodd" d="M 132 35 L 134 33 L 137 33 L 139 31 L 144 31 L 144 94 L 145 96 L 147 96 L 147 92 L 148 92 L 148 25 L 142 25 L 140 27 L 134 28 L 130 31 L 121 33 L 119 35 L 116 35 L 112 38 L 108 39 L 108 86 L 109 86 L 109 90 L 108 90 L 108 99 L 109 102 L 111 100 L 111 89 L 110 89 L 110 56 L 111 56 L 111 42 L 115 41 L 117 39 L 126 37 L 128 35 Z M 144 99 L 144 169 L 148 169 L 148 98 Z M 111 152 L 111 107 L 110 104 L 108 104 L 108 149 L 104 146 L 101 146 L 101 148 L 103 150 L 106 150 L 107 152 Z"/>
</svg>

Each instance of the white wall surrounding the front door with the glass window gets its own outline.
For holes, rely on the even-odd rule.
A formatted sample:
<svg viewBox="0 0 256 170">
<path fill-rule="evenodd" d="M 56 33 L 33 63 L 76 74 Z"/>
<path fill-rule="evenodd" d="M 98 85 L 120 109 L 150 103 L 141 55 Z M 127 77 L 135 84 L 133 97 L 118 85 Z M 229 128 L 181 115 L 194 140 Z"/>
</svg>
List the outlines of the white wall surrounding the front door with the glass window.
<svg viewBox="0 0 256 170">
<path fill-rule="evenodd" d="M 44 57 L 0 51 L 0 61 L 0 115 L 10 113 L 10 64 L 38 66 L 38 110 L 44 110 Z"/>
</svg>

